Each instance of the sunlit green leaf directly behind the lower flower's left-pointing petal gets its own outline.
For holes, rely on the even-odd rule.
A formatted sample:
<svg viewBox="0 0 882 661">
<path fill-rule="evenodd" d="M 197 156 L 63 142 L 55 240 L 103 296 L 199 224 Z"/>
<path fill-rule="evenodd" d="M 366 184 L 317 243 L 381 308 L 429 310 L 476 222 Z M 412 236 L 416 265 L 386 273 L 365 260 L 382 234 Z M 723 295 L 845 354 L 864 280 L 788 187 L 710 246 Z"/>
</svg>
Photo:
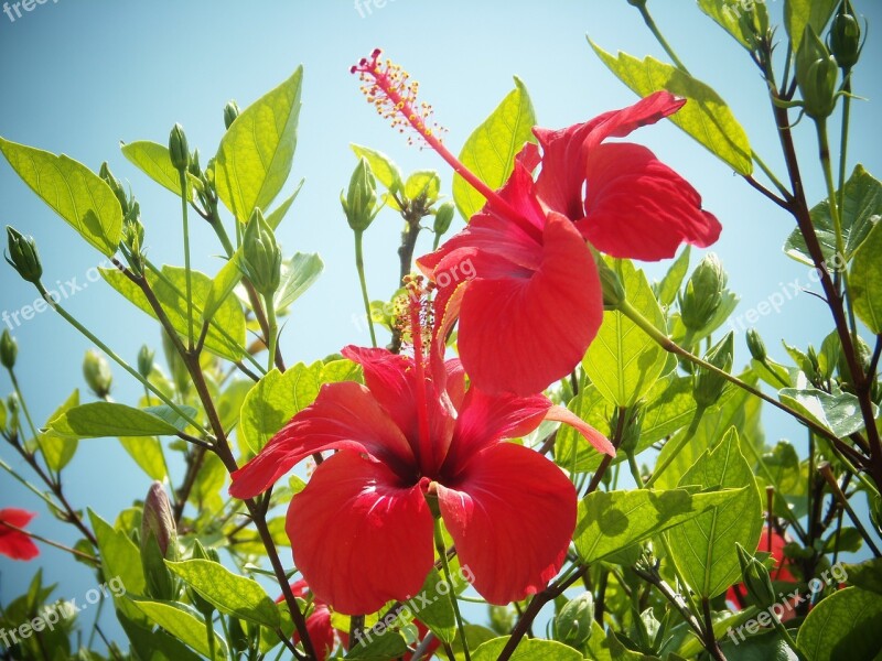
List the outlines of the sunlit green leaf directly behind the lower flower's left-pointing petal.
<svg viewBox="0 0 882 661">
<path fill-rule="evenodd" d="M 273 369 L 255 383 L 239 415 L 239 434 L 252 452 L 259 452 L 295 413 L 315 400 L 320 370 L 299 362 L 284 375 Z"/>
</svg>

